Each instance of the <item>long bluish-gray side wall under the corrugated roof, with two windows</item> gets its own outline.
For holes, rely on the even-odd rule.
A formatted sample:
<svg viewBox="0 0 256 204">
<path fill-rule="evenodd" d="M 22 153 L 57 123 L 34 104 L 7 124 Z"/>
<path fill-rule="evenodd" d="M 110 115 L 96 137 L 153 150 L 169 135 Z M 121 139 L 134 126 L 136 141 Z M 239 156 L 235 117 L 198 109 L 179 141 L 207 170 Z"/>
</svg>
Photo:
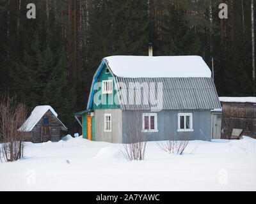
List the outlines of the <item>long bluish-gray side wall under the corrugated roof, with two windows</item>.
<svg viewBox="0 0 256 204">
<path fill-rule="evenodd" d="M 134 113 L 137 115 L 136 119 L 142 121 L 142 113 L 150 113 L 150 111 L 131 111 L 123 110 L 122 114 L 122 128 L 123 128 L 123 142 L 127 142 L 127 133 L 129 134 L 129 127 L 134 120 Z M 153 112 L 152 112 L 153 113 Z M 191 140 L 206 140 L 211 141 L 211 112 L 210 110 L 162 110 L 157 113 L 157 129 L 158 132 L 148 133 L 148 141 L 166 140 L 168 136 L 177 139 L 182 137 L 189 137 Z M 193 113 L 193 129 L 191 132 L 179 132 L 178 129 L 178 113 Z M 141 124 L 141 121 L 138 123 Z M 142 129 L 142 125 L 141 125 Z"/>
</svg>

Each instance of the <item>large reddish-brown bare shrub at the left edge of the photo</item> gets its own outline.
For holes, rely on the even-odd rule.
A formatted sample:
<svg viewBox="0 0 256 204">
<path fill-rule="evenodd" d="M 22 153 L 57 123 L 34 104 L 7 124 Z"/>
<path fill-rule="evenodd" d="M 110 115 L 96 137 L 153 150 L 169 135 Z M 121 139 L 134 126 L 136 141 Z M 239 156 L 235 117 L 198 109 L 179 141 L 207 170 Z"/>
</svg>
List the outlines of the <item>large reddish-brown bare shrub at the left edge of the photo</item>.
<svg viewBox="0 0 256 204">
<path fill-rule="evenodd" d="M 1 159 L 17 161 L 24 153 L 25 132 L 18 131 L 26 120 L 26 107 L 13 98 L 1 99 L 0 102 L 0 137 Z M 23 127 L 24 128 L 24 127 Z"/>
</svg>

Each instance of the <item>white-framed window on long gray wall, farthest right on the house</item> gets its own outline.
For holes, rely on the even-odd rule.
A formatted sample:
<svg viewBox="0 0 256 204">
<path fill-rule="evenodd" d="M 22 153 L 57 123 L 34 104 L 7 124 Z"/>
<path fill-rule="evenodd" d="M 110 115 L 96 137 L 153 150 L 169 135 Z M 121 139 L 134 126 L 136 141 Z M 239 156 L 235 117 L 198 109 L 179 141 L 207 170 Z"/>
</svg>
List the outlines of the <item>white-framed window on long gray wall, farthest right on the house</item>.
<svg viewBox="0 0 256 204">
<path fill-rule="evenodd" d="M 178 131 L 194 131 L 192 113 L 178 114 Z"/>
</svg>

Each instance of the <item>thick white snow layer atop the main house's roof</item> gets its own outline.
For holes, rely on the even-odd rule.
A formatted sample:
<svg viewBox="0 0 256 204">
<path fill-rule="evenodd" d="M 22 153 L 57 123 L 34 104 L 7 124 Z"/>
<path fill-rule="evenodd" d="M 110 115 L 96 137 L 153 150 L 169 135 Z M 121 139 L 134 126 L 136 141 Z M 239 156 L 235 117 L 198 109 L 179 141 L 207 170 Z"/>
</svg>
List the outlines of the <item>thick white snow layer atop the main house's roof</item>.
<svg viewBox="0 0 256 204">
<path fill-rule="evenodd" d="M 104 60 L 117 77 L 211 77 L 200 56 L 110 56 Z"/>
</svg>

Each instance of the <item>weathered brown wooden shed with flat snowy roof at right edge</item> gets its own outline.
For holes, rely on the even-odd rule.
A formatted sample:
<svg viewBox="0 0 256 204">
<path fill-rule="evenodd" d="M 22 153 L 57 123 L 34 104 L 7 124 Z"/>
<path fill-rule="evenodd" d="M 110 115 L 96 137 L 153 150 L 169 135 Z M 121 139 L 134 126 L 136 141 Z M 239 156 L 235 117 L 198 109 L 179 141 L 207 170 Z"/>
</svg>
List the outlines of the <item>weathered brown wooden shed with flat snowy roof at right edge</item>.
<svg viewBox="0 0 256 204">
<path fill-rule="evenodd" d="M 239 138 L 239 135 L 256 138 L 256 97 L 220 97 L 220 101 L 221 138 Z"/>
</svg>

